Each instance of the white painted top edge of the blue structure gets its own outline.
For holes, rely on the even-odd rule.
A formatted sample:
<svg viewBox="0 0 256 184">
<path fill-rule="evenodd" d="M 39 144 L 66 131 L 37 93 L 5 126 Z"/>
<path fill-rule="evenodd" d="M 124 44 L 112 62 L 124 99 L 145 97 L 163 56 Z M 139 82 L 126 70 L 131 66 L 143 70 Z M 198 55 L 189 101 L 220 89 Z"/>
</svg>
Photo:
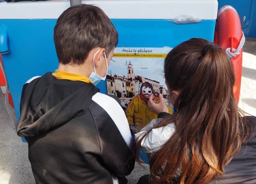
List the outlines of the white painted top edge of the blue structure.
<svg viewBox="0 0 256 184">
<path fill-rule="evenodd" d="M 110 19 L 172 19 L 182 14 L 201 20 L 217 18 L 217 0 L 82 0 L 99 6 Z M 0 3 L 0 19 L 57 19 L 69 0 Z"/>
</svg>

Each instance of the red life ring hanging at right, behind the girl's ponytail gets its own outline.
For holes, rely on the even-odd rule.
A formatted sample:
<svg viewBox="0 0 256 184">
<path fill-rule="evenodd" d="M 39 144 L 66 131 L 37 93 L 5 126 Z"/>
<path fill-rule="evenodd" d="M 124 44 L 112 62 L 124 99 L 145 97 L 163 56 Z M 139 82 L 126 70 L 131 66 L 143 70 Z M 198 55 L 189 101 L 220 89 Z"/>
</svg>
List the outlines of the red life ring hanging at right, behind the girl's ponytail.
<svg viewBox="0 0 256 184">
<path fill-rule="evenodd" d="M 234 53 L 234 48 L 237 49 L 240 46 L 240 41 L 243 37 L 241 21 L 236 10 L 229 5 L 223 6 L 217 14 L 214 43 L 219 45 L 222 50 L 226 51 L 227 48 L 231 48 L 230 52 Z M 240 45 L 239 45 L 240 44 Z M 238 50 L 239 51 L 239 50 Z M 237 52 L 238 52 L 237 51 Z M 241 78 L 242 78 L 242 58 L 243 48 L 240 53 L 231 58 L 234 65 L 234 72 L 236 82 L 233 87 L 233 92 L 236 98 L 236 103 L 239 102 Z"/>
</svg>

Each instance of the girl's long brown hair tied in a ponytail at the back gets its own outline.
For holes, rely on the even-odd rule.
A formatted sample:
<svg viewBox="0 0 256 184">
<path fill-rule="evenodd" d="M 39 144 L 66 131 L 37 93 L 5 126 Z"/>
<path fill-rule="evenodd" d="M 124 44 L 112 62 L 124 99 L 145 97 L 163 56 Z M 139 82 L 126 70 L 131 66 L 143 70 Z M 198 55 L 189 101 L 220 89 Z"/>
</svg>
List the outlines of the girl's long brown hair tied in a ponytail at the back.
<svg viewBox="0 0 256 184">
<path fill-rule="evenodd" d="M 154 184 L 208 183 L 223 173 L 252 132 L 233 94 L 233 65 L 218 46 L 193 38 L 167 55 L 164 76 L 169 90 L 180 95 L 173 104 L 176 113 L 154 128 L 175 122 L 176 130 L 151 161 L 151 179 Z"/>
</svg>

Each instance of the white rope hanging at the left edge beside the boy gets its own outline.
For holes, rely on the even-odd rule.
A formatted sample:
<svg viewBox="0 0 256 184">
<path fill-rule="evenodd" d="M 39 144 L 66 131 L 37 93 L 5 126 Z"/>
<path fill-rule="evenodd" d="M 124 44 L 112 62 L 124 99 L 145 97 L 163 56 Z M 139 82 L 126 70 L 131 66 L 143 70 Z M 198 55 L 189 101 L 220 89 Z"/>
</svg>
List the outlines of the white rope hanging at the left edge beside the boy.
<svg viewBox="0 0 256 184">
<path fill-rule="evenodd" d="M 12 106 L 9 104 L 9 92 L 10 92 L 9 91 L 9 85 L 7 83 L 4 66 L 3 66 L 1 61 L 0 61 L 0 68 L 3 72 L 3 74 L 4 74 L 4 80 L 5 80 L 5 106 L 6 106 L 7 112 L 9 114 L 11 120 L 14 122 L 15 128 L 17 129 L 18 120 L 17 120 L 14 108 L 12 108 Z"/>
</svg>

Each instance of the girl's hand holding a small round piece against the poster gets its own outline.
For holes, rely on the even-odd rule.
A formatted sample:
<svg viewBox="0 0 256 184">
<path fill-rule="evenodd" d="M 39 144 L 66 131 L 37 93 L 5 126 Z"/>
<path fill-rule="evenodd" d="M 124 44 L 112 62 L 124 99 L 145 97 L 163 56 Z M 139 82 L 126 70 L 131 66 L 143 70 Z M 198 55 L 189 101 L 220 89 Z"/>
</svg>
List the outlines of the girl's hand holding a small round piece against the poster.
<svg viewBox="0 0 256 184">
<path fill-rule="evenodd" d="M 153 111 L 157 115 L 161 112 L 169 113 L 162 94 L 160 94 L 159 97 L 155 97 L 153 94 L 151 94 L 148 99 L 148 106 L 151 111 Z"/>
</svg>

